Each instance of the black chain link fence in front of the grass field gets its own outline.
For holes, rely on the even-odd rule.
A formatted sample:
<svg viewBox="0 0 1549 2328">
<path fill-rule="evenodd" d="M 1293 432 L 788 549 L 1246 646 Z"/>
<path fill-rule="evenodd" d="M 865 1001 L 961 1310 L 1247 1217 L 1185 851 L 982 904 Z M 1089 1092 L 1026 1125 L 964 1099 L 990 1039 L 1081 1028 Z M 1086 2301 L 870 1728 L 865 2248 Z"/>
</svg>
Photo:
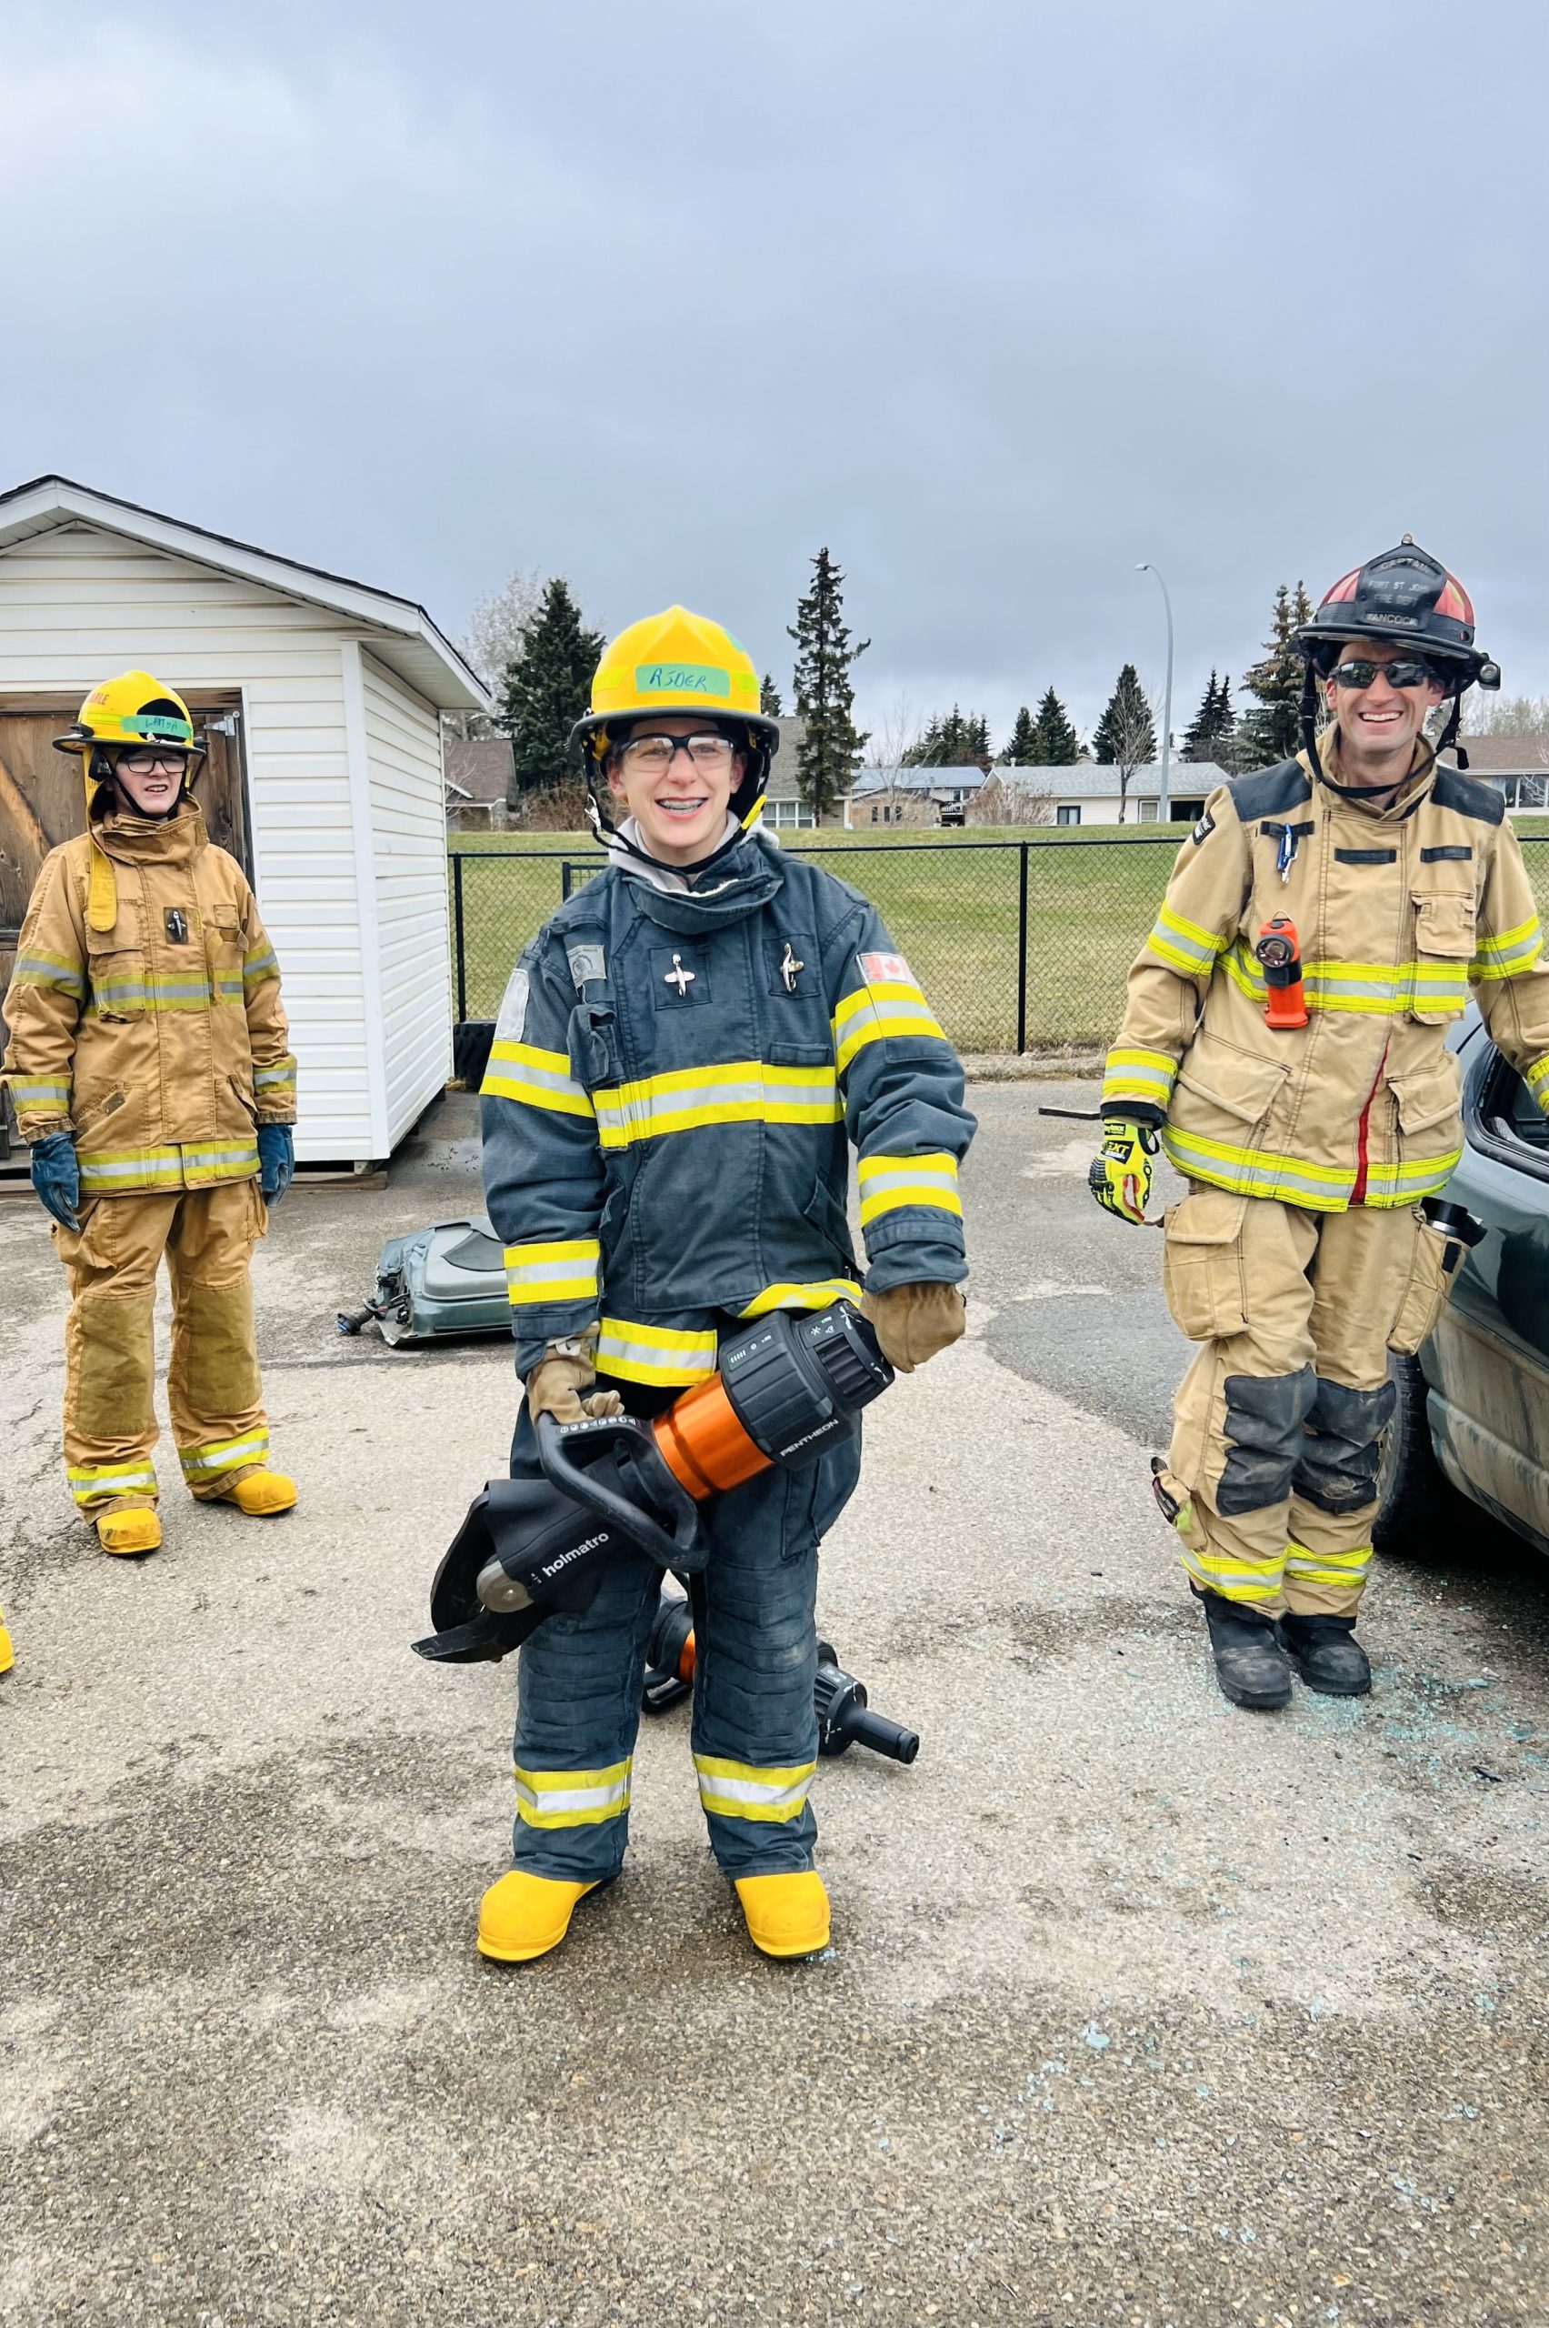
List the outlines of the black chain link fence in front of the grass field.
<svg viewBox="0 0 1549 2328">
<path fill-rule="evenodd" d="M 861 889 L 958 1050 L 1100 1050 L 1156 917 L 1182 833 L 1030 840 L 793 843 Z M 1521 850 L 1549 922 L 1549 833 Z M 521 947 L 598 852 L 479 850 L 451 857 L 458 1020 L 491 1020 Z"/>
</svg>

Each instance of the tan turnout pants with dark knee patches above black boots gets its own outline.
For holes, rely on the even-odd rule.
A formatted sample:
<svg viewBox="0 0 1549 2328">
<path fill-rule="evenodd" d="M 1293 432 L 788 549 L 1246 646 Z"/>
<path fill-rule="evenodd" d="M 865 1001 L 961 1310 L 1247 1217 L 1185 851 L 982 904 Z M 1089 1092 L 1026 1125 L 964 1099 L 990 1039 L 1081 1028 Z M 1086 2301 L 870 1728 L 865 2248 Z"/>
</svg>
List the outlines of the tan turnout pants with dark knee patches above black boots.
<svg viewBox="0 0 1549 2328">
<path fill-rule="evenodd" d="M 1195 1585 L 1354 1616 L 1393 1413 L 1389 1350 L 1430 1332 L 1444 1255 L 1416 1206 L 1307 1213 L 1193 1185 L 1168 1213 L 1168 1308 L 1202 1343 L 1163 1474 Z"/>
</svg>

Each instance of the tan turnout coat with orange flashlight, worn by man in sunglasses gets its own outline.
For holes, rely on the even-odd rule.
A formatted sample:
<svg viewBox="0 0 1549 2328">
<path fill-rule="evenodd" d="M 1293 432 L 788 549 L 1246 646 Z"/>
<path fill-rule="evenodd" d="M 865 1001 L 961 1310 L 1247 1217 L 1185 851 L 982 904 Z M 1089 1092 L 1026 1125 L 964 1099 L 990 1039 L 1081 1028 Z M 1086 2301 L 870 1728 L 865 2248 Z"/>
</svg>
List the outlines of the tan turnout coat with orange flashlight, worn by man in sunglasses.
<svg viewBox="0 0 1549 2328">
<path fill-rule="evenodd" d="M 1333 764 L 1337 736 L 1321 750 Z M 1191 1180 L 1321 1213 L 1435 1194 L 1463 1150 L 1447 1029 L 1470 996 L 1549 1113 L 1549 964 L 1516 833 L 1498 792 L 1421 750 L 1379 810 L 1307 754 L 1242 775 L 1179 850 L 1102 1106 L 1161 1122 Z M 1300 941 L 1298 1031 L 1265 1024 L 1272 915 Z"/>
</svg>

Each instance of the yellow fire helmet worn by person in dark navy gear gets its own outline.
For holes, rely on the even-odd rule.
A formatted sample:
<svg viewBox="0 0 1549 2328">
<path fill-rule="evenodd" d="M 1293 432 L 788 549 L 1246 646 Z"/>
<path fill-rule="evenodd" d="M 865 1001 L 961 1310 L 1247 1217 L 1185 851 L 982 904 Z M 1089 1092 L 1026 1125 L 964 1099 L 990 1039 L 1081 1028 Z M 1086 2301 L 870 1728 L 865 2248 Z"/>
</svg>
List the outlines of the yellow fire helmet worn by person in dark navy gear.
<svg viewBox="0 0 1549 2328">
<path fill-rule="evenodd" d="M 570 729 L 570 750 L 586 757 L 593 819 L 607 826 L 602 764 L 609 750 L 651 712 L 705 712 L 709 724 L 747 752 L 747 771 L 730 810 L 747 829 L 758 822 L 779 726 L 758 710 L 758 673 L 740 640 L 707 615 L 670 605 L 619 631 L 602 650 L 591 682 L 591 712 Z"/>
</svg>

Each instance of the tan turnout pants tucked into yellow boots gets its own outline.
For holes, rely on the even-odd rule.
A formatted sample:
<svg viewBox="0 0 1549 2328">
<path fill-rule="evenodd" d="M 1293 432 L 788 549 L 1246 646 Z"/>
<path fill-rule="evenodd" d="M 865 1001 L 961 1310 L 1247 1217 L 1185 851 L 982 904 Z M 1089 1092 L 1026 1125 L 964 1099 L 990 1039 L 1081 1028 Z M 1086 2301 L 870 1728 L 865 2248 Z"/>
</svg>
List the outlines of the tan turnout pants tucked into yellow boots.
<svg viewBox="0 0 1549 2328">
<path fill-rule="evenodd" d="M 258 1183 L 88 1197 L 79 1218 L 79 1232 L 53 1229 L 70 1278 L 65 1469 L 74 1502 L 93 1520 L 156 1504 L 151 1313 L 163 1252 L 172 1436 L 193 1495 L 223 1495 L 263 1469 L 270 1448 L 247 1273 L 267 1227 Z"/>
</svg>

